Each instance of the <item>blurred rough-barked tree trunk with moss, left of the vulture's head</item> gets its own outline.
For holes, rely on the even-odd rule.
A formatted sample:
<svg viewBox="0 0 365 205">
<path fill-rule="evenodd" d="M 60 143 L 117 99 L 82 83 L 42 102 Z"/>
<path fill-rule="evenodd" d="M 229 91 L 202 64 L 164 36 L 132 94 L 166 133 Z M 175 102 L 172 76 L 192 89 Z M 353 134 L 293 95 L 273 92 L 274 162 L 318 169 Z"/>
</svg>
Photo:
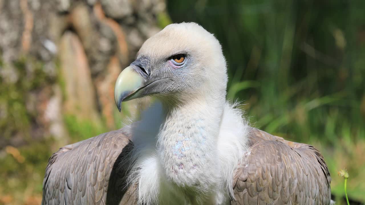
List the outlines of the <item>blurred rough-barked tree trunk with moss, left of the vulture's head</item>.
<svg viewBox="0 0 365 205">
<path fill-rule="evenodd" d="M 163 0 L 0 0 L 0 150 L 66 143 L 68 118 L 118 128 L 115 80 L 164 12 Z"/>
</svg>

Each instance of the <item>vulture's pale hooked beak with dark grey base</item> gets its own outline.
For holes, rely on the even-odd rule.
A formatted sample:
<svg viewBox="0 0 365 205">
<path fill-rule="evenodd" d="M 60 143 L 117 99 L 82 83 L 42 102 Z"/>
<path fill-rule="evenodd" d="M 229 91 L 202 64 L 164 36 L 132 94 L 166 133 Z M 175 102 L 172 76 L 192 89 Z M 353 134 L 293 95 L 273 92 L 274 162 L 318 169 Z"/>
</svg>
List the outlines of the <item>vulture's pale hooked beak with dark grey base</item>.
<svg viewBox="0 0 365 205">
<path fill-rule="evenodd" d="M 119 112 L 122 109 L 122 101 L 160 93 L 169 84 L 169 79 L 166 77 L 151 77 L 148 59 L 146 57 L 137 59 L 126 67 L 116 80 L 114 100 Z"/>
</svg>

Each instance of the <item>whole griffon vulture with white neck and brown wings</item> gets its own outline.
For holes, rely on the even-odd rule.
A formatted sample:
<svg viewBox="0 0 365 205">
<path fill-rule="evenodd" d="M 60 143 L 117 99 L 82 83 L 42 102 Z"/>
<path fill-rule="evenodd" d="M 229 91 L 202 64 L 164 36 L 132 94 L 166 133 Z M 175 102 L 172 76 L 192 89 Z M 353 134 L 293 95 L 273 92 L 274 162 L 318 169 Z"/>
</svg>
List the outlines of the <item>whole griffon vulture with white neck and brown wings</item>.
<svg viewBox="0 0 365 205">
<path fill-rule="evenodd" d="M 165 27 L 114 93 L 119 111 L 156 101 L 138 121 L 54 153 L 42 204 L 330 204 L 320 152 L 250 127 L 226 89 L 214 35 L 196 23 Z"/>
</svg>

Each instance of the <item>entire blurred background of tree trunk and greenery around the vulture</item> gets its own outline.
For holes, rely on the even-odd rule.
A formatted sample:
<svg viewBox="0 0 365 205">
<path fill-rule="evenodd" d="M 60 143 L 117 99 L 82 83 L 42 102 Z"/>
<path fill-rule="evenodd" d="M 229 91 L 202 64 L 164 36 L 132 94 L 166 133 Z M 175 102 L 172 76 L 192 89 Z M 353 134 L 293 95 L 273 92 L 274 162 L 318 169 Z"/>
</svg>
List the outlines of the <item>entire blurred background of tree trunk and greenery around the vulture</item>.
<svg viewBox="0 0 365 205">
<path fill-rule="evenodd" d="M 0 0 L 0 204 L 40 204 L 59 147 L 120 128 L 114 83 L 166 25 L 222 43 L 228 98 L 254 127 L 318 148 L 365 202 L 365 1 Z"/>
</svg>

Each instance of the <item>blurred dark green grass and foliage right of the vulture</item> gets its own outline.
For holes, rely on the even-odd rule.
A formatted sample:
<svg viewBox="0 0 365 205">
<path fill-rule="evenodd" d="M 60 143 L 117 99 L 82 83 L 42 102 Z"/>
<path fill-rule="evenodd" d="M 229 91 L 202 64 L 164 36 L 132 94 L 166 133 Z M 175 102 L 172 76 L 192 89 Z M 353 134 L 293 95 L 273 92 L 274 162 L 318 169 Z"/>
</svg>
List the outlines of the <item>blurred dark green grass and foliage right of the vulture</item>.
<svg viewBox="0 0 365 205">
<path fill-rule="evenodd" d="M 332 191 L 349 170 L 349 196 L 365 201 L 365 1 L 168 1 L 173 22 L 215 34 L 227 59 L 228 98 L 255 127 L 314 144 Z M 341 203 L 341 202 L 340 202 Z"/>
</svg>

